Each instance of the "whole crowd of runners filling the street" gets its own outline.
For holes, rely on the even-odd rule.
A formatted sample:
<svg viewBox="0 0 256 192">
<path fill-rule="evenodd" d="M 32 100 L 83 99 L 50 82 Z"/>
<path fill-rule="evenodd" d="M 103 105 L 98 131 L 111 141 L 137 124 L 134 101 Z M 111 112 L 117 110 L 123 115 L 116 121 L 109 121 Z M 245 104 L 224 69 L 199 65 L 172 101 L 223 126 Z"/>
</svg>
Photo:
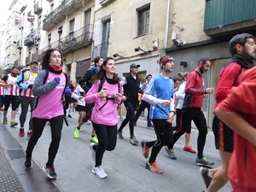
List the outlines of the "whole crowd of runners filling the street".
<svg viewBox="0 0 256 192">
<path fill-rule="evenodd" d="M 90 137 L 91 157 L 94 161 L 91 172 L 99 178 L 107 177 L 102 167 L 105 151 L 112 151 L 117 138 L 124 139 L 123 129 L 129 123 L 130 143 L 140 145 L 143 157 L 148 159 L 145 167 L 156 174 L 164 171 L 156 159 L 162 147 L 167 156 L 177 160 L 175 143 L 185 133 L 184 151 L 197 153 L 195 165 L 207 189 L 212 192 L 221 189 L 230 180 L 234 191 L 256 191 L 256 44 L 253 35 L 237 34 L 229 44 L 232 61 L 227 63 L 218 75 L 218 86 L 205 88 L 203 74 L 211 67 L 209 58 L 199 58 L 198 66 L 191 72 L 177 73 L 170 79 L 174 69 L 174 58 L 165 55 L 160 58 L 160 73 L 154 77 L 148 74 L 142 84 L 138 77 L 140 65 L 132 63 L 130 73 L 119 79 L 112 57 L 94 59 L 94 67 L 84 72 L 76 84 L 62 72 L 62 54 L 58 49 L 48 49 L 40 65 L 32 61 L 22 72 L 12 67 L 11 72 L 1 76 L 0 108 L 3 111 L 3 125 L 8 125 L 7 113 L 11 104 L 9 125 L 15 127 L 16 111 L 19 106 L 19 136 L 29 137 L 26 148 L 26 168 L 32 167 L 32 151 L 41 137 L 44 126 L 49 124 L 51 143 L 48 161 L 44 171 L 51 179 L 57 177 L 54 161 L 61 142 L 63 122 L 72 118 L 73 110 L 79 113 L 77 125 L 73 125 L 73 137 L 79 139 L 84 123 L 92 125 Z M 207 140 L 207 119 L 202 111 L 204 98 L 215 91 L 216 104 L 213 110 L 212 131 L 215 147 L 222 165 L 213 168 L 214 162 L 203 154 Z M 142 101 L 138 107 L 138 93 Z M 126 109 L 121 119 L 121 106 Z M 25 131 L 27 112 L 31 119 Z M 137 119 L 148 109 L 147 126 L 154 127 L 155 140 L 138 141 L 135 136 Z M 136 113 L 135 113 L 136 112 Z M 118 113 L 122 120 L 118 128 Z M 176 125 L 172 120 L 176 115 Z M 191 123 L 198 129 L 197 150 L 189 145 Z M 151 149 L 151 152 L 150 152 Z"/>
</svg>

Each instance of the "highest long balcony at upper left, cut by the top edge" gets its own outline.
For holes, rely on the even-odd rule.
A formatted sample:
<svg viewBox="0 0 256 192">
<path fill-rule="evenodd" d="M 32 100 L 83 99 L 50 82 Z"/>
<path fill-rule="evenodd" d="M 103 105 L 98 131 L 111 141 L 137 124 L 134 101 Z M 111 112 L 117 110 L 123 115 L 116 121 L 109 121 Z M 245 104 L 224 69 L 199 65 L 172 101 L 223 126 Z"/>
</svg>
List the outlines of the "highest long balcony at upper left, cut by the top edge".
<svg viewBox="0 0 256 192">
<path fill-rule="evenodd" d="M 43 20 L 43 30 L 48 31 L 53 26 L 57 25 L 66 16 L 73 14 L 80 9 L 84 4 L 84 0 L 64 0 L 59 7 L 53 10 Z"/>
</svg>

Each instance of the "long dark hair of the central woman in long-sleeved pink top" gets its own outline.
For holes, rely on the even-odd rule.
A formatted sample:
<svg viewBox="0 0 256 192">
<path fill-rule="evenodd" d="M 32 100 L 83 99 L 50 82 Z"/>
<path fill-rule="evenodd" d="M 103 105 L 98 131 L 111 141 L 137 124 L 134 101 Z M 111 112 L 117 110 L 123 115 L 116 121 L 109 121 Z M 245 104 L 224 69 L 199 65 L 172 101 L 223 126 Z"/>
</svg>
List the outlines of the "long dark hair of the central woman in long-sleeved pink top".
<svg viewBox="0 0 256 192">
<path fill-rule="evenodd" d="M 103 61 L 102 66 L 100 67 L 99 72 L 96 73 L 96 78 L 95 78 L 94 82 L 96 82 L 97 80 L 101 81 L 101 83 L 99 84 L 99 90 L 102 90 L 102 85 L 104 84 L 104 81 L 106 79 L 106 71 L 103 69 L 103 66 L 106 66 L 109 60 L 113 60 L 114 61 L 114 59 L 112 57 L 107 57 Z M 119 79 L 118 74 L 113 73 L 113 83 L 119 84 L 119 81 L 120 81 L 120 79 Z"/>
</svg>

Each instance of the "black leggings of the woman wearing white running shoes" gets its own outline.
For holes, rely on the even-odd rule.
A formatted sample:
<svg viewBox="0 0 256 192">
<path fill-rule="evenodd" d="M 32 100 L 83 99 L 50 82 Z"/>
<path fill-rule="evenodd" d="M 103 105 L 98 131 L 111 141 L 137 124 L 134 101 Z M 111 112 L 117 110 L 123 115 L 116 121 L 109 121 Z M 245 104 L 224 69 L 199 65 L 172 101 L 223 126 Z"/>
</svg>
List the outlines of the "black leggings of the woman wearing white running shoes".
<svg viewBox="0 0 256 192">
<path fill-rule="evenodd" d="M 96 164 L 95 166 L 102 165 L 103 154 L 106 150 L 112 151 L 116 145 L 117 125 L 101 125 L 92 122 L 96 131 L 96 136 L 99 143 L 94 145 L 96 150 Z"/>
</svg>

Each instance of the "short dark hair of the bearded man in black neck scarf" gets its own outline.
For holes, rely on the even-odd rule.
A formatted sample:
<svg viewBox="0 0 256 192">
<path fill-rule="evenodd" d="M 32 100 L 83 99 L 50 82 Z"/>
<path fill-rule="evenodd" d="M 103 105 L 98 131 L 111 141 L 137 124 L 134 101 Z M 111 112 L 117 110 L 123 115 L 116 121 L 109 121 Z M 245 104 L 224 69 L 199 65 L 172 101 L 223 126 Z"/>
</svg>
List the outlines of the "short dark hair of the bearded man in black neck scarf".
<svg viewBox="0 0 256 192">
<path fill-rule="evenodd" d="M 235 55 L 236 54 L 236 44 L 241 44 L 244 46 L 244 44 L 247 43 L 247 38 L 254 38 L 252 34 L 249 33 L 241 33 L 237 34 L 233 38 L 230 39 L 230 54 Z"/>
</svg>

